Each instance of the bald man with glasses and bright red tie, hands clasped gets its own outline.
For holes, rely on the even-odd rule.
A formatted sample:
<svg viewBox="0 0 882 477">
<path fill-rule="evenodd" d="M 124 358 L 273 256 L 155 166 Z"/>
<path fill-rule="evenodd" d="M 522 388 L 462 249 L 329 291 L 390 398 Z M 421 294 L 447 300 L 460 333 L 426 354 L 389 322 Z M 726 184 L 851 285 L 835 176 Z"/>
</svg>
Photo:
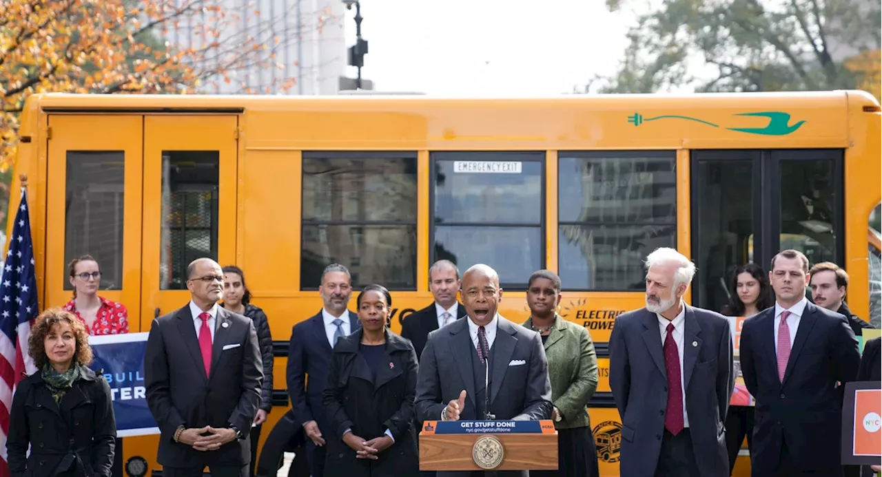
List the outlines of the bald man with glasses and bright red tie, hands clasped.
<svg viewBox="0 0 882 477">
<path fill-rule="evenodd" d="M 198 258 L 187 267 L 191 301 L 153 319 L 144 357 L 147 406 L 161 431 L 162 474 L 215 477 L 250 473 L 251 422 L 258 412 L 263 364 L 248 317 L 218 306 L 221 265 Z"/>
</svg>

